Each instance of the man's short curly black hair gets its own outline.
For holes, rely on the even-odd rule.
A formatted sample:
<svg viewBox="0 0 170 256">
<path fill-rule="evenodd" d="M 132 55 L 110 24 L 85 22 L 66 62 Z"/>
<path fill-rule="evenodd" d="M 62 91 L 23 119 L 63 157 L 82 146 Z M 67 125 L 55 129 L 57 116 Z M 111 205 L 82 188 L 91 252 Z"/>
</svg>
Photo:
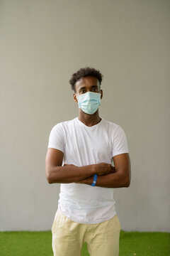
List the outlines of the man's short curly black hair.
<svg viewBox="0 0 170 256">
<path fill-rule="evenodd" d="M 72 90 L 74 90 L 74 92 L 76 92 L 76 87 L 75 87 L 76 82 L 79 79 L 84 78 L 86 76 L 93 76 L 97 78 L 101 85 L 103 75 L 99 70 L 96 70 L 95 68 L 89 68 L 89 67 L 80 68 L 76 73 L 72 75 L 72 78 L 69 80 L 69 83 L 72 86 Z"/>
</svg>

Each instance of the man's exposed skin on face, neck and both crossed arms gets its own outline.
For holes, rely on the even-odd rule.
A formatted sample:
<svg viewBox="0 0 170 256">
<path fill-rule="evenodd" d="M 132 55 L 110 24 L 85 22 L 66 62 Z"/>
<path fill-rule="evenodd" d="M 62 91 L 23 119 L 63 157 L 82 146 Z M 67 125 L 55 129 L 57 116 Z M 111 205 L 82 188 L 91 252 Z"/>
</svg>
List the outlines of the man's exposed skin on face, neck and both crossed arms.
<svg viewBox="0 0 170 256">
<path fill-rule="evenodd" d="M 78 104 L 77 95 L 86 92 L 100 92 L 101 99 L 103 91 L 97 78 L 88 76 L 76 82 L 74 102 Z M 98 110 L 94 114 L 86 114 L 79 108 L 79 120 L 86 126 L 93 126 L 101 122 Z M 45 159 L 45 175 L 48 183 L 84 183 L 91 185 L 94 174 L 98 174 L 96 186 L 105 188 L 120 188 L 130 186 L 131 169 L 130 156 L 128 153 L 113 156 L 115 166 L 107 163 L 91 164 L 87 166 L 75 166 L 64 164 L 62 159 L 64 153 L 58 149 L 48 148 Z M 75 156 L 76 157 L 76 156 Z"/>
</svg>

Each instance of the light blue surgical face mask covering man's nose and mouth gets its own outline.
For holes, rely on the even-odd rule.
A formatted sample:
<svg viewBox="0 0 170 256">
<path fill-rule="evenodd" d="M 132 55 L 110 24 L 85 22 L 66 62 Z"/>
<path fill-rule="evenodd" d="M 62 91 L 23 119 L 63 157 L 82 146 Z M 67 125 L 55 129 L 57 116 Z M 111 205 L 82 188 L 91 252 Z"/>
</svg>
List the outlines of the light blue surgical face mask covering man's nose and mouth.
<svg viewBox="0 0 170 256">
<path fill-rule="evenodd" d="M 98 92 L 86 92 L 82 95 L 77 95 L 79 108 L 86 114 L 94 114 L 98 110 L 98 106 L 101 105 L 101 93 Z"/>
</svg>

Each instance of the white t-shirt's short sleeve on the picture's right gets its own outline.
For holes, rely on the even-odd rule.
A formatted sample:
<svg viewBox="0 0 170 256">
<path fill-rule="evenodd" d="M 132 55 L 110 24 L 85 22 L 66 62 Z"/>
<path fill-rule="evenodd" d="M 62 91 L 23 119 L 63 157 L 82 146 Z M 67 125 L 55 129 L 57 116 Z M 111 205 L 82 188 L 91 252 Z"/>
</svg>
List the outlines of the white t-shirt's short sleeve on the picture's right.
<svg viewBox="0 0 170 256">
<path fill-rule="evenodd" d="M 123 128 L 118 125 L 112 137 L 112 157 L 123 153 L 129 153 L 128 142 Z"/>
</svg>

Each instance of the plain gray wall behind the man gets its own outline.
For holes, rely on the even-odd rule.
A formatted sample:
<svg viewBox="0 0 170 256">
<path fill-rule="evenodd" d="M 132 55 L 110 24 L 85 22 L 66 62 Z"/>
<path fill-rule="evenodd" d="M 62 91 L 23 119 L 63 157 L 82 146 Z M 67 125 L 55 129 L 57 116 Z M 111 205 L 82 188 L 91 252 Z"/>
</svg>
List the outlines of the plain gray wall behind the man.
<svg viewBox="0 0 170 256">
<path fill-rule="evenodd" d="M 77 117 L 72 73 L 103 73 L 99 114 L 125 130 L 129 188 L 115 188 L 123 230 L 170 231 L 170 1 L 0 1 L 0 230 L 50 230 L 50 130 Z"/>
</svg>

